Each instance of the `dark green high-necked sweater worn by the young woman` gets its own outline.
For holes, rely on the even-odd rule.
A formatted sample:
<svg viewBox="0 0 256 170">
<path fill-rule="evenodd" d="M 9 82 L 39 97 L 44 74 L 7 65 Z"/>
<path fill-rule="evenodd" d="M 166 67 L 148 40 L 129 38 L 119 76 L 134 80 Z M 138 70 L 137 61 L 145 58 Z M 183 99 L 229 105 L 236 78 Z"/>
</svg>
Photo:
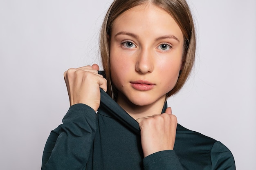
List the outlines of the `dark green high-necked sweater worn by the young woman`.
<svg viewBox="0 0 256 170">
<path fill-rule="evenodd" d="M 179 124 L 174 150 L 143 158 L 139 124 L 102 89 L 97 114 L 85 104 L 70 107 L 47 139 L 42 161 L 42 170 L 235 169 L 227 147 Z"/>
</svg>

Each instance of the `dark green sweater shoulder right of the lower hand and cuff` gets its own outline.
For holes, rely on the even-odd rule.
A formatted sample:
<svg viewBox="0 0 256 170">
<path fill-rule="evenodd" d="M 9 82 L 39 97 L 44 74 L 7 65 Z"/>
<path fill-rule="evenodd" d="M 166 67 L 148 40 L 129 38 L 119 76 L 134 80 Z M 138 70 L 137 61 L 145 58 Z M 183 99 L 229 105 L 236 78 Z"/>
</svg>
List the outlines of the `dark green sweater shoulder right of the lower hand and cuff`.
<svg viewBox="0 0 256 170">
<path fill-rule="evenodd" d="M 235 167 L 232 153 L 220 141 L 184 128 L 180 124 L 177 125 L 174 149 L 182 164 L 194 169 L 216 169 L 220 165 Z"/>
</svg>

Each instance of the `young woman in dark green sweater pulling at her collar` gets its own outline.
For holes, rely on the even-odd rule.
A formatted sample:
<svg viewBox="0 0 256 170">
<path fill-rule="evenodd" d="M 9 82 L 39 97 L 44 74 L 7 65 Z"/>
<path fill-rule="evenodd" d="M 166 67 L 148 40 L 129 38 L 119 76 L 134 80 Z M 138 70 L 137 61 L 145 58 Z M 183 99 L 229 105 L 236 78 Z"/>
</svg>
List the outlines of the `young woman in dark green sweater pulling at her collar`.
<svg viewBox="0 0 256 170">
<path fill-rule="evenodd" d="M 104 71 L 64 73 L 70 109 L 47 140 L 42 170 L 235 169 L 228 148 L 167 108 L 195 58 L 185 0 L 115 0 L 100 38 Z"/>
</svg>

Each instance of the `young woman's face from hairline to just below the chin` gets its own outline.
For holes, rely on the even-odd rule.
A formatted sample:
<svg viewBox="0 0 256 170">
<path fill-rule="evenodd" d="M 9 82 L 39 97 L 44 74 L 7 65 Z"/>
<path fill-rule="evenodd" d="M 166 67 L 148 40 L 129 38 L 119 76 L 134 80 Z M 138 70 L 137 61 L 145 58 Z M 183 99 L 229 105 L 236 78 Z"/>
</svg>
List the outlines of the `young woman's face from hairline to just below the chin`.
<svg viewBox="0 0 256 170">
<path fill-rule="evenodd" d="M 165 10 L 143 4 L 122 13 L 112 26 L 110 66 L 117 103 L 163 106 L 182 67 L 183 35 Z"/>
</svg>

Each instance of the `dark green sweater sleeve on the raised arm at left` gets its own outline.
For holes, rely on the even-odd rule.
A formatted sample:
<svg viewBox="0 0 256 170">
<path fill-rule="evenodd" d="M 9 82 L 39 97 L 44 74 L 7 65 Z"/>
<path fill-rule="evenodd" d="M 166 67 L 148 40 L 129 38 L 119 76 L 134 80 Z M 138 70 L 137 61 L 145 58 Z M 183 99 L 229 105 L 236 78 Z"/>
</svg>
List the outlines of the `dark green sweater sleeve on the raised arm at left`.
<svg viewBox="0 0 256 170">
<path fill-rule="evenodd" d="M 95 111 L 75 104 L 62 121 L 47 139 L 41 170 L 81 170 L 86 166 L 97 129 Z"/>
</svg>

